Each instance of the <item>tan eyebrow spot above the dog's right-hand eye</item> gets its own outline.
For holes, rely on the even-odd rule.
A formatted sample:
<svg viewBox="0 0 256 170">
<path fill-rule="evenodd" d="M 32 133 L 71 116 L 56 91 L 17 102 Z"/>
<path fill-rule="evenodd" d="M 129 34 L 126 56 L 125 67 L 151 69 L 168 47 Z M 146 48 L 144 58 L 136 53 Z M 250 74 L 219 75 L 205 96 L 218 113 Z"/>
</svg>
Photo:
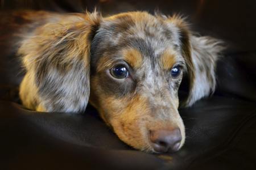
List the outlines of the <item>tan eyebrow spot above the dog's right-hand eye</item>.
<svg viewBox="0 0 256 170">
<path fill-rule="evenodd" d="M 160 56 L 160 62 L 162 63 L 164 70 L 169 70 L 176 63 L 176 54 L 170 48 L 164 50 L 163 54 Z"/>
</svg>

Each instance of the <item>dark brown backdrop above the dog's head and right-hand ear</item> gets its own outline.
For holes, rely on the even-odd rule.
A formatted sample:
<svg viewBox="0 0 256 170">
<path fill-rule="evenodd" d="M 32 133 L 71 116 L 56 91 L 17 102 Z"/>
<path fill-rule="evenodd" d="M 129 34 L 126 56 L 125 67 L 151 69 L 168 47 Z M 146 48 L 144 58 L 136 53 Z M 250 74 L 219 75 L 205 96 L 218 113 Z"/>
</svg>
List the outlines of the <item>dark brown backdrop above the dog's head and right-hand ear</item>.
<svg viewBox="0 0 256 170">
<path fill-rule="evenodd" d="M 1 0 L 2 10 L 33 9 L 57 12 L 93 11 L 97 7 L 103 15 L 118 12 L 145 10 L 153 13 L 155 10 L 163 14 L 174 13 L 188 17 L 195 31 L 202 35 L 220 37 L 228 42 L 230 52 L 247 52 L 255 50 L 256 12 L 255 1 L 221 1 L 221 0 L 169 0 L 169 1 L 79 1 L 79 0 L 46 0 L 21 1 Z"/>
</svg>

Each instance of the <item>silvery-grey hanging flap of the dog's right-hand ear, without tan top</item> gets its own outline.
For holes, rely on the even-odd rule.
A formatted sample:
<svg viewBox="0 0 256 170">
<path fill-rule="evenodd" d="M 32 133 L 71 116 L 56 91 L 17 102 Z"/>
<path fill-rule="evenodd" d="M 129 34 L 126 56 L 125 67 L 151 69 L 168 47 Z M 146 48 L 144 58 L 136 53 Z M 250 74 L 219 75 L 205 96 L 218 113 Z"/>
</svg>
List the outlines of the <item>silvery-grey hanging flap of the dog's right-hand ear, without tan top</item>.
<svg viewBox="0 0 256 170">
<path fill-rule="evenodd" d="M 191 36 L 192 67 L 189 69 L 189 94 L 185 106 L 212 94 L 216 87 L 216 62 L 224 49 L 222 41 L 209 36 Z"/>
</svg>

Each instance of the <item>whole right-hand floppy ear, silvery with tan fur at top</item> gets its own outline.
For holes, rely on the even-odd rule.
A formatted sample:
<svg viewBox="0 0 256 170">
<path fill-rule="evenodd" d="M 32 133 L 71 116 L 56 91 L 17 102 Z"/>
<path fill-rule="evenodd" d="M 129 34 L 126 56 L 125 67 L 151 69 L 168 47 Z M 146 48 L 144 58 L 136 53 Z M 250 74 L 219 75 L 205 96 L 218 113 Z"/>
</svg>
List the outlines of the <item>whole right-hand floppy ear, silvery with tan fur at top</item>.
<svg viewBox="0 0 256 170">
<path fill-rule="evenodd" d="M 181 50 L 187 64 L 189 94 L 183 105 L 188 107 L 214 92 L 216 62 L 224 47 L 222 41 L 213 37 L 193 35 L 180 16 L 174 15 L 169 20 L 179 28 Z"/>
</svg>

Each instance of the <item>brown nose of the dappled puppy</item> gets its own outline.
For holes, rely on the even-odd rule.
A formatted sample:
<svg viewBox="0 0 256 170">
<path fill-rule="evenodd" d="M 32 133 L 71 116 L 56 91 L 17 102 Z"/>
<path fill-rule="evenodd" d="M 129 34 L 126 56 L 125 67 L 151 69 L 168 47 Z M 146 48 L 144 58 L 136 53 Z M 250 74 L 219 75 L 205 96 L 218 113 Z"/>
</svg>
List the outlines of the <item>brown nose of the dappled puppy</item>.
<svg viewBox="0 0 256 170">
<path fill-rule="evenodd" d="M 150 131 L 150 140 L 156 152 L 175 152 L 181 143 L 180 129 Z"/>
</svg>

